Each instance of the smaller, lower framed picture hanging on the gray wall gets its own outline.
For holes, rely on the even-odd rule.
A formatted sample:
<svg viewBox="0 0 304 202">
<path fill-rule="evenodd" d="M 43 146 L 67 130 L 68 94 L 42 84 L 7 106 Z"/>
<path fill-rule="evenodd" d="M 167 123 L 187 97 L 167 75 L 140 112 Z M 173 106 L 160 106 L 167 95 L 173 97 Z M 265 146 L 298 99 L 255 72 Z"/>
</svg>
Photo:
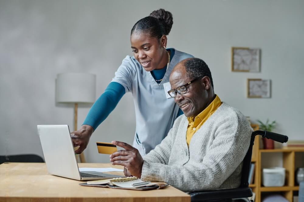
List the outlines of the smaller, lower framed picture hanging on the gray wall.
<svg viewBox="0 0 304 202">
<path fill-rule="evenodd" d="M 247 79 L 247 98 L 270 98 L 270 79 Z"/>
</svg>

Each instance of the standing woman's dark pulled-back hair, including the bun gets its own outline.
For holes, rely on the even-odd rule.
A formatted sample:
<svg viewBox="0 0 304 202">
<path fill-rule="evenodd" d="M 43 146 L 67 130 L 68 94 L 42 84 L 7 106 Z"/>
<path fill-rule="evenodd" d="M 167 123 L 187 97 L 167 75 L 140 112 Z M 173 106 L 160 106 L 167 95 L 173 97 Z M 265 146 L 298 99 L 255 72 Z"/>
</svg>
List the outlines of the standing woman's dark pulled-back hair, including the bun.
<svg viewBox="0 0 304 202">
<path fill-rule="evenodd" d="M 151 38 L 160 39 L 163 35 L 169 34 L 172 25 L 173 17 L 171 12 L 161 8 L 137 21 L 131 30 L 131 35 L 144 32 Z"/>
</svg>

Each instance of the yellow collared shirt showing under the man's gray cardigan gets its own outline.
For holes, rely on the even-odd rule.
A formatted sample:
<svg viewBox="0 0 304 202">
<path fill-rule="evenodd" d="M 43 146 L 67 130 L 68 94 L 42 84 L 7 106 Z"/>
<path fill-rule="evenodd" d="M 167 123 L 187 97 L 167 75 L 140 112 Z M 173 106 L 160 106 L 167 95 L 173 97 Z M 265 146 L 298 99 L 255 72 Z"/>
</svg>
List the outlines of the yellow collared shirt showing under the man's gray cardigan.
<svg viewBox="0 0 304 202">
<path fill-rule="evenodd" d="M 186 134 L 186 141 L 189 146 L 192 136 L 195 134 L 197 130 L 205 123 L 205 121 L 216 111 L 216 109 L 222 104 L 219 97 L 216 95 L 214 100 L 208 105 L 206 109 L 204 109 L 201 113 L 199 113 L 195 118 L 188 117 L 188 129 Z"/>
</svg>

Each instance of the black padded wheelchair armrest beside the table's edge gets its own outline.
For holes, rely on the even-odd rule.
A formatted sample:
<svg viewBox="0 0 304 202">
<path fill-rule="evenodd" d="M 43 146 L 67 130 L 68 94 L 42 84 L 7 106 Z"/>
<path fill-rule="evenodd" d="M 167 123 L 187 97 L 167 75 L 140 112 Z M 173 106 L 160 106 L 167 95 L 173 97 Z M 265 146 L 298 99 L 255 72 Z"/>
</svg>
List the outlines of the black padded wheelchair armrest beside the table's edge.
<svg viewBox="0 0 304 202">
<path fill-rule="evenodd" d="M 208 201 L 233 198 L 245 198 L 252 196 L 250 187 L 235 188 L 235 189 L 219 189 L 214 191 L 197 191 L 190 192 L 191 201 Z"/>
</svg>

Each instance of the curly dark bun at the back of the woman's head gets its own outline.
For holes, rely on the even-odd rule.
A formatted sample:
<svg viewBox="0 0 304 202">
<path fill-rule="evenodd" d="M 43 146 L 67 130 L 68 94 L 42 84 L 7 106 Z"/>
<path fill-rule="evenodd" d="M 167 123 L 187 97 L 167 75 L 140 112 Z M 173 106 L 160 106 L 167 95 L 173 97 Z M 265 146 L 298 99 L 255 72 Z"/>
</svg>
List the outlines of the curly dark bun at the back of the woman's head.
<svg viewBox="0 0 304 202">
<path fill-rule="evenodd" d="M 173 17 L 171 12 L 165 11 L 164 9 L 160 8 L 156 11 L 151 12 L 150 16 L 157 18 L 164 26 L 164 35 L 168 35 L 170 33 L 173 25 Z"/>
</svg>

